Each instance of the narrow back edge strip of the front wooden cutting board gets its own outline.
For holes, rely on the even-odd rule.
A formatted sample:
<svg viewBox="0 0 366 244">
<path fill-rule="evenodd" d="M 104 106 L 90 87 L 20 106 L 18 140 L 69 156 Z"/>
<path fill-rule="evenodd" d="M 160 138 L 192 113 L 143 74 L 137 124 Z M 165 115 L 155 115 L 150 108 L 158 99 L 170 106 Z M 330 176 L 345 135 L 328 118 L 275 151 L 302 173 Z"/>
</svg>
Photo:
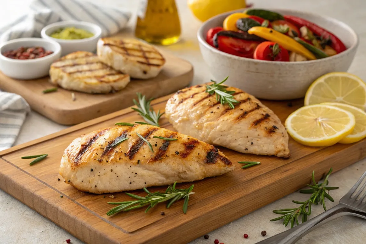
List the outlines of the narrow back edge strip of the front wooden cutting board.
<svg viewBox="0 0 366 244">
<path fill-rule="evenodd" d="M 154 105 L 160 104 L 162 102 L 165 102 L 171 96 L 172 96 L 172 94 L 169 94 L 169 95 L 166 95 L 164 97 L 157 98 L 157 99 L 153 100 L 153 102 L 151 103 L 151 105 L 154 106 Z M 134 112 L 134 111 L 131 109 L 131 107 L 128 107 L 128 108 L 124 108 L 124 109 L 121 109 L 119 111 L 110 113 L 108 115 L 98 117 L 96 119 L 92 119 L 92 120 L 85 121 L 85 122 L 80 123 L 80 124 L 77 124 L 77 125 L 73 125 L 73 126 L 71 126 L 69 128 L 63 129 L 61 131 L 57 131 L 55 133 L 52 133 L 52 134 L 49 134 L 49 135 L 46 135 L 46 136 L 42 136 L 41 138 L 38 138 L 38 139 L 35 139 L 35 140 L 31 140 L 30 142 L 25 142 L 25 143 L 16 145 L 14 147 L 10 147 L 8 149 L 5 149 L 3 151 L 0 151 L 0 157 L 1 156 L 4 156 L 6 154 L 12 153 L 14 151 L 23 149 L 23 148 L 26 148 L 26 147 L 29 147 L 29 146 L 33 146 L 35 144 L 38 144 L 38 143 L 41 143 L 41 142 L 45 142 L 47 140 L 51 140 L 53 138 L 57 138 L 57 137 L 62 136 L 62 135 L 69 134 L 71 132 L 77 131 L 78 129 L 86 128 L 86 127 L 89 127 L 91 125 L 95 125 L 95 124 L 104 122 L 106 120 L 113 119 L 113 118 L 118 117 L 118 116 L 127 115 L 128 113 L 132 113 L 132 112 Z"/>
</svg>

